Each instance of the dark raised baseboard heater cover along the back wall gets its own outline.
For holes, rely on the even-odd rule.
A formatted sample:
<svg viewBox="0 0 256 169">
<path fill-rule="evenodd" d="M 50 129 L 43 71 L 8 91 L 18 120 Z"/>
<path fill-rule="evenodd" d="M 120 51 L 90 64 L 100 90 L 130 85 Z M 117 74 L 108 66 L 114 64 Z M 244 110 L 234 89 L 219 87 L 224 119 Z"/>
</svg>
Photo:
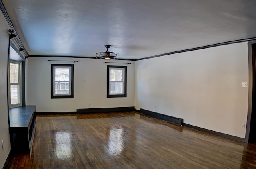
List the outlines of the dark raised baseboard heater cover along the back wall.
<svg viewBox="0 0 256 169">
<path fill-rule="evenodd" d="M 80 113 L 101 113 L 101 112 L 126 112 L 134 111 L 135 107 L 113 107 L 113 108 L 79 108 L 76 109 L 78 114 Z"/>
</svg>

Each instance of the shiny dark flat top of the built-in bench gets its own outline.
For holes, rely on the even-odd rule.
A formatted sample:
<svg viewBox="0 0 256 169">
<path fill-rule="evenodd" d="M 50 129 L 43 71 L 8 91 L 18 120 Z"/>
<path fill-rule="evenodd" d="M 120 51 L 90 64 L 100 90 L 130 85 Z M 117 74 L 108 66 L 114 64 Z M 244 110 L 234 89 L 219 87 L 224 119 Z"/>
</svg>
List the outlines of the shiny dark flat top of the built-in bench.
<svg viewBox="0 0 256 169">
<path fill-rule="evenodd" d="M 10 127 L 28 127 L 36 106 L 22 106 L 9 109 Z"/>
</svg>

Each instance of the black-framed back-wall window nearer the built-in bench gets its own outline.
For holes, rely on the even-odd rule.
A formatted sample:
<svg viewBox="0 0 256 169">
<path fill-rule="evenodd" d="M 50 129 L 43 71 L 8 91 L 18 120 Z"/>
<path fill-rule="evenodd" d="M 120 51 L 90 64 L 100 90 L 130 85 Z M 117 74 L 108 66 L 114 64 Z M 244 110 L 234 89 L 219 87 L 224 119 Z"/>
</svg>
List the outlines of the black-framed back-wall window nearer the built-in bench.
<svg viewBox="0 0 256 169">
<path fill-rule="evenodd" d="M 74 98 L 74 65 L 52 64 L 51 96 L 52 98 Z"/>
</svg>

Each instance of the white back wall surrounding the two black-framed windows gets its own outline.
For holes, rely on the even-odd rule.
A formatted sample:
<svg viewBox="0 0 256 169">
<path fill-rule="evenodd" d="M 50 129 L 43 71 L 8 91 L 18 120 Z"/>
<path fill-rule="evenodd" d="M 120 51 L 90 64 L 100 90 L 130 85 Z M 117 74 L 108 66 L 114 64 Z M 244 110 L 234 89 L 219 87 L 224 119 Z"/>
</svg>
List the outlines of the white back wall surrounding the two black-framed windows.
<svg viewBox="0 0 256 169">
<path fill-rule="evenodd" d="M 78 62 L 48 62 L 73 60 Z M 100 59 L 29 57 L 26 59 L 26 105 L 36 105 L 36 112 L 74 112 L 77 108 L 112 108 L 134 106 L 134 61 L 117 64 Z M 51 64 L 74 64 L 74 98 L 51 99 Z M 127 66 L 127 97 L 107 98 L 107 65 Z M 83 83 L 85 80 L 86 83 Z M 89 103 L 91 106 L 89 106 Z"/>
</svg>

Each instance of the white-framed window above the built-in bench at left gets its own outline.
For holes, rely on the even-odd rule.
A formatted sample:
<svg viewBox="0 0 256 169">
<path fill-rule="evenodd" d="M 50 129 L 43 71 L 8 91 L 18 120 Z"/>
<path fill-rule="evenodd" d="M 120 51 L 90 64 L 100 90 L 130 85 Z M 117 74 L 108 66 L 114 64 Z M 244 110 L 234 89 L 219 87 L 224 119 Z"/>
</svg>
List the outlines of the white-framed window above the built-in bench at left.
<svg viewBox="0 0 256 169">
<path fill-rule="evenodd" d="M 9 107 L 22 106 L 21 67 L 19 61 L 9 62 Z"/>
</svg>

